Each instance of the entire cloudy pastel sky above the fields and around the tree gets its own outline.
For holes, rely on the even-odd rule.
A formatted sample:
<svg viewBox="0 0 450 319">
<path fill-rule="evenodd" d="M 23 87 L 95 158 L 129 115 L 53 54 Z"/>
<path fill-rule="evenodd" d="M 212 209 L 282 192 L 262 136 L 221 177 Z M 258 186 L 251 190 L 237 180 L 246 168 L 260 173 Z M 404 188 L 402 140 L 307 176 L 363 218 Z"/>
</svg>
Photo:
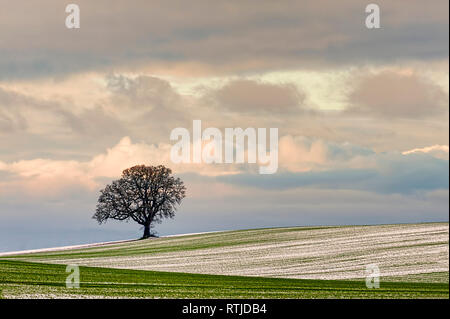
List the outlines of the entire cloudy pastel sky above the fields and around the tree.
<svg viewBox="0 0 450 319">
<path fill-rule="evenodd" d="M 187 186 L 160 235 L 448 221 L 448 1 L 0 0 L 0 251 L 136 238 L 97 225 L 135 164 Z M 279 129 L 279 168 L 170 161 L 170 132 Z"/>
</svg>

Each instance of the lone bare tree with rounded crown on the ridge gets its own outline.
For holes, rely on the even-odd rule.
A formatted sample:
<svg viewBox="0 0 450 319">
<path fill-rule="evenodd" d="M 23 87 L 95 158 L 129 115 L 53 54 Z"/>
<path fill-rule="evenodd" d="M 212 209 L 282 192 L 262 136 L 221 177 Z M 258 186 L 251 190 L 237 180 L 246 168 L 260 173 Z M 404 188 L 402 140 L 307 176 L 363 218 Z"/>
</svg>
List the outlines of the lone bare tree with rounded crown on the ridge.
<svg viewBox="0 0 450 319">
<path fill-rule="evenodd" d="M 172 176 L 170 168 L 138 165 L 124 170 L 120 179 L 100 193 L 92 218 L 99 224 L 108 219 L 134 220 L 144 226 L 142 238 L 148 238 L 154 223 L 175 216 L 176 205 L 185 197 L 186 187 Z"/>
</svg>

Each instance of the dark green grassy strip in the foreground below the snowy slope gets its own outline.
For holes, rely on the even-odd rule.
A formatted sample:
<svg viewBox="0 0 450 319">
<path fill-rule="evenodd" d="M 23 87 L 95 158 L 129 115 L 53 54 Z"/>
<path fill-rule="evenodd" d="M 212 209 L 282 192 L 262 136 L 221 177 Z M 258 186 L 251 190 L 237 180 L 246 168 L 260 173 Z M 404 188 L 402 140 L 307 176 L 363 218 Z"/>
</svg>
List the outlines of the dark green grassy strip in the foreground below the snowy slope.
<svg viewBox="0 0 450 319">
<path fill-rule="evenodd" d="M 448 298 L 448 283 L 382 283 L 199 275 L 81 267 L 80 289 L 65 288 L 65 266 L 0 261 L 4 298 Z"/>
</svg>

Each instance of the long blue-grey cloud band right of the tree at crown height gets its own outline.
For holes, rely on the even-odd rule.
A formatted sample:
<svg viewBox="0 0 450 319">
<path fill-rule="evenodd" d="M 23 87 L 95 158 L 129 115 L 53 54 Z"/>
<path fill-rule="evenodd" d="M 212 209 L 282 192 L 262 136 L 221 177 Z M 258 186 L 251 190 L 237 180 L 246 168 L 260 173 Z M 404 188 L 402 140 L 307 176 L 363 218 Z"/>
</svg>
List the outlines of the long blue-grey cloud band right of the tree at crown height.
<svg viewBox="0 0 450 319">
<path fill-rule="evenodd" d="M 378 194 L 417 194 L 449 187 L 448 161 L 432 157 L 381 155 L 372 169 L 331 168 L 322 171 L 283 172 L 273 176 L 220 176 L 221 182 L 262 189 L 360 190 Z"/>
</svg>

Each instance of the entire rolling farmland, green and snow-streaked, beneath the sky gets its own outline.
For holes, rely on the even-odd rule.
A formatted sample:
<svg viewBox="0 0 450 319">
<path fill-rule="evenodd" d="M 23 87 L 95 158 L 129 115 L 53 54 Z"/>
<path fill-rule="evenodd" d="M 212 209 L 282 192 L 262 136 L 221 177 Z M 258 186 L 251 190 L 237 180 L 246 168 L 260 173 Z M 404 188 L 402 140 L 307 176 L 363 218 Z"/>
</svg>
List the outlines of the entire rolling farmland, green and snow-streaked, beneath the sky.
<svg viewBox="0 0 450 319">
<path fill-rule="evenodd" d="M 66 266 L 80 288 L 66 288 Z M 365 266 L 380 268 L 368 289 Z M 449 298 L 448 223 L 205 233 L 0 255 L 3 298 Z"/>
</svg>

